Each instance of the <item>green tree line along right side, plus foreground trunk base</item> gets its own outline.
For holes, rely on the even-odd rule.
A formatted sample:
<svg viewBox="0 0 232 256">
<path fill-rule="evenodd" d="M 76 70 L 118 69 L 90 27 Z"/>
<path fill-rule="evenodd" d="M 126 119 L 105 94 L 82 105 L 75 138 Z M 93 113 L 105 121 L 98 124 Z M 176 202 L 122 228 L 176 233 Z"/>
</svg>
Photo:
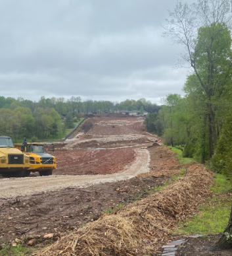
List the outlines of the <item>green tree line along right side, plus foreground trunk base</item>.
<svg viewBox="0 0 232 256">
<path fill-rule="evenodd" d="M 217 172 L 232 176 L 232 51 L 231 1 L 178 1 L 166 20 L 165 35 L 183 46 L 182 67 L 191 69 L 183 91 L 168 94 L 158 113 L 150 113 L 149 131 L 179 146 Z M 216 247 L 232 247 L 232 209 Z"/>
</svg>

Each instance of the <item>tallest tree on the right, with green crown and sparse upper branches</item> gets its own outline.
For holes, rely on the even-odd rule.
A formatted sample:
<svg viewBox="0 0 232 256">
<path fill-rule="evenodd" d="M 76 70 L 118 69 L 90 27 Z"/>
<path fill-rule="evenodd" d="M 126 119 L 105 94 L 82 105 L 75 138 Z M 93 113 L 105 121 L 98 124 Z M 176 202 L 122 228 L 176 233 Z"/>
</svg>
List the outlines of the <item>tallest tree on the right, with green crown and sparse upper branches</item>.
<svg viewBox="0 0 232 256">
<path fill-rule="evenodd" d="M 231 77 L 229 11 L 229 0 L 198 0 L 193 5 L 178 1 L 174 12 L 170 11 L 165 33 L 175 43 L 183 45 L 185 53 L 182 59 L 191 65 L 206 94 L 212 153 L 218 140 L 217 104 Z"/>
</svg>

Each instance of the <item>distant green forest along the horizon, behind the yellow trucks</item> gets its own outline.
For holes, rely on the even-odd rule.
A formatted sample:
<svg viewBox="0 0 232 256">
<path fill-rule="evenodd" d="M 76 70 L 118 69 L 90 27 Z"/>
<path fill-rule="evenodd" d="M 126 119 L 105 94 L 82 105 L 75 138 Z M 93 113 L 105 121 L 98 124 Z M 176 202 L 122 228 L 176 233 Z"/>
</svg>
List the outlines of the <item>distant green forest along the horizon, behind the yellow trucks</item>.
<svg viewBox="0 0 232 256">
<path fill-rule="evenodd" d="M 12 135 L 14 141 L 23 137 L 37 139 L 61 139 L 66 129 L 74 127 L 81 115 L 108 113 L 118 110 L 137 110 L 143 113 L 158 112 L 156 104 L 140 99 L 114 103 L 110 101 L 85 100 L 80 97 L 45 98 L 38 102 L 24 98 L 0 96 L 0 135 Z"/>
</svg>

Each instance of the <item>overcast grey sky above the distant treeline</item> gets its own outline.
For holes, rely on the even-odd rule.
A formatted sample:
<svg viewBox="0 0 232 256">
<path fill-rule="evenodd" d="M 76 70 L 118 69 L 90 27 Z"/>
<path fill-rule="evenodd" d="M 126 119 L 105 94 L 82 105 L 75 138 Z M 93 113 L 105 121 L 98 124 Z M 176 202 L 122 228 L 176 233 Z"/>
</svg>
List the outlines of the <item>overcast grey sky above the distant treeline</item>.
<svg viewBox="0 0 232 256">
<path fill-rule="evenodd" d="M 0 0 L 0 95 L 39 100 L 183 94 L 180 46 L 162 38 L 174 0 Z"/>
</svg>

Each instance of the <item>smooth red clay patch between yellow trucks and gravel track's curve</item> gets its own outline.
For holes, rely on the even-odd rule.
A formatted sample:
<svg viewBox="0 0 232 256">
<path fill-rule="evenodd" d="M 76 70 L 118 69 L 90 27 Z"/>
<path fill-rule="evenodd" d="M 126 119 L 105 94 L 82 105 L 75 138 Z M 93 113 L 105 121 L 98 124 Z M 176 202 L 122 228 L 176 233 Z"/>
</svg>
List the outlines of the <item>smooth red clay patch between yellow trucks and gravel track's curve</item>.
<svg viewBox="0 0 232 256">
<path fill-rule="evenodd" d="M 131 148 L 50 152 L 57 157 L 54 175 L 114 174 L 135 160 Z"/>
</svg>

